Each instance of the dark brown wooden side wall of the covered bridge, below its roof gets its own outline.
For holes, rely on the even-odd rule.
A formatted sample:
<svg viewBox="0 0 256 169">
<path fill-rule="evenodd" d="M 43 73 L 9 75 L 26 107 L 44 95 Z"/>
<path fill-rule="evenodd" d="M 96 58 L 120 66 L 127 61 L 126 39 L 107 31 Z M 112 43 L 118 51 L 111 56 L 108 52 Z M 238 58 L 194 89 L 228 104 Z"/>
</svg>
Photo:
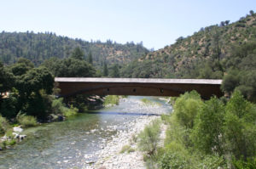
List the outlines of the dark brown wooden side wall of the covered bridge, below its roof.
<svg viewBox="0 0 256 169">
<path fill-rule="evenodd" d="M 65 82 L 60 81 L 60 78 L 55 79 L 55 82 L 58 82 L 59 87 L 61 88 L 61 96 L 68 97 L 78 93 L 97 95 L 178 96 L 181 93 L 196 90 L 201 94 L 202 98 L 209 99 L 212 95 L 220 97 L 224 94 L 220 90 L 221 82 L 219 82 L 219 80 L 212 82 L 213 84 L 210 83 L 211 81 L 206 82 L 207 80 L 204 80 L 205 82 L 201 84 L 198 82 L 192 84 L 185 82 L 150 82 L 154 79 L 149 79 L 149 82 L 85 82 L 84 80 L 81 81 L 81 78 L 78 79 L 78 82 L 75 82 L 74 80 L 75 78 L 72 78 L 69 79 L 68 82 L 68 78 L 66 78 Z"/>
</svg>

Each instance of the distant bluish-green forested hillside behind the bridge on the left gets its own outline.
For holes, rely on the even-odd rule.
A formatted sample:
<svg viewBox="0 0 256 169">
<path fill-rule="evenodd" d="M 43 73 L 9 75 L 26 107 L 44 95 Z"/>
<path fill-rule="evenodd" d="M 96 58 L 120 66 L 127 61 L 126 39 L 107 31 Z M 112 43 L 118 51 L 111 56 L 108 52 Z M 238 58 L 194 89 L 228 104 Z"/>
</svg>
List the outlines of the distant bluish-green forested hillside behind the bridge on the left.
<svg viewBox="0 0 256 169">
<path fill-rule="evenodd" d="M 73 49 L 79 47 L 84 51 L 86 59 L 90 54 L 93 65 L 102 66 L 114 63 L 122 65 L 148 54 L 143 42 L 135 44 L 127 42 L 119 44 L 107 42 L 86 42 L 81 39 L 56 36 L 55 33 L 5 32 L 0 33 L 0 61 L 4 64 L 15 63 L 20 57 L 30 59 L 40 65 L 45 59 L 56 57 L 65 59 L 71 56 Z"/>
</svg>

